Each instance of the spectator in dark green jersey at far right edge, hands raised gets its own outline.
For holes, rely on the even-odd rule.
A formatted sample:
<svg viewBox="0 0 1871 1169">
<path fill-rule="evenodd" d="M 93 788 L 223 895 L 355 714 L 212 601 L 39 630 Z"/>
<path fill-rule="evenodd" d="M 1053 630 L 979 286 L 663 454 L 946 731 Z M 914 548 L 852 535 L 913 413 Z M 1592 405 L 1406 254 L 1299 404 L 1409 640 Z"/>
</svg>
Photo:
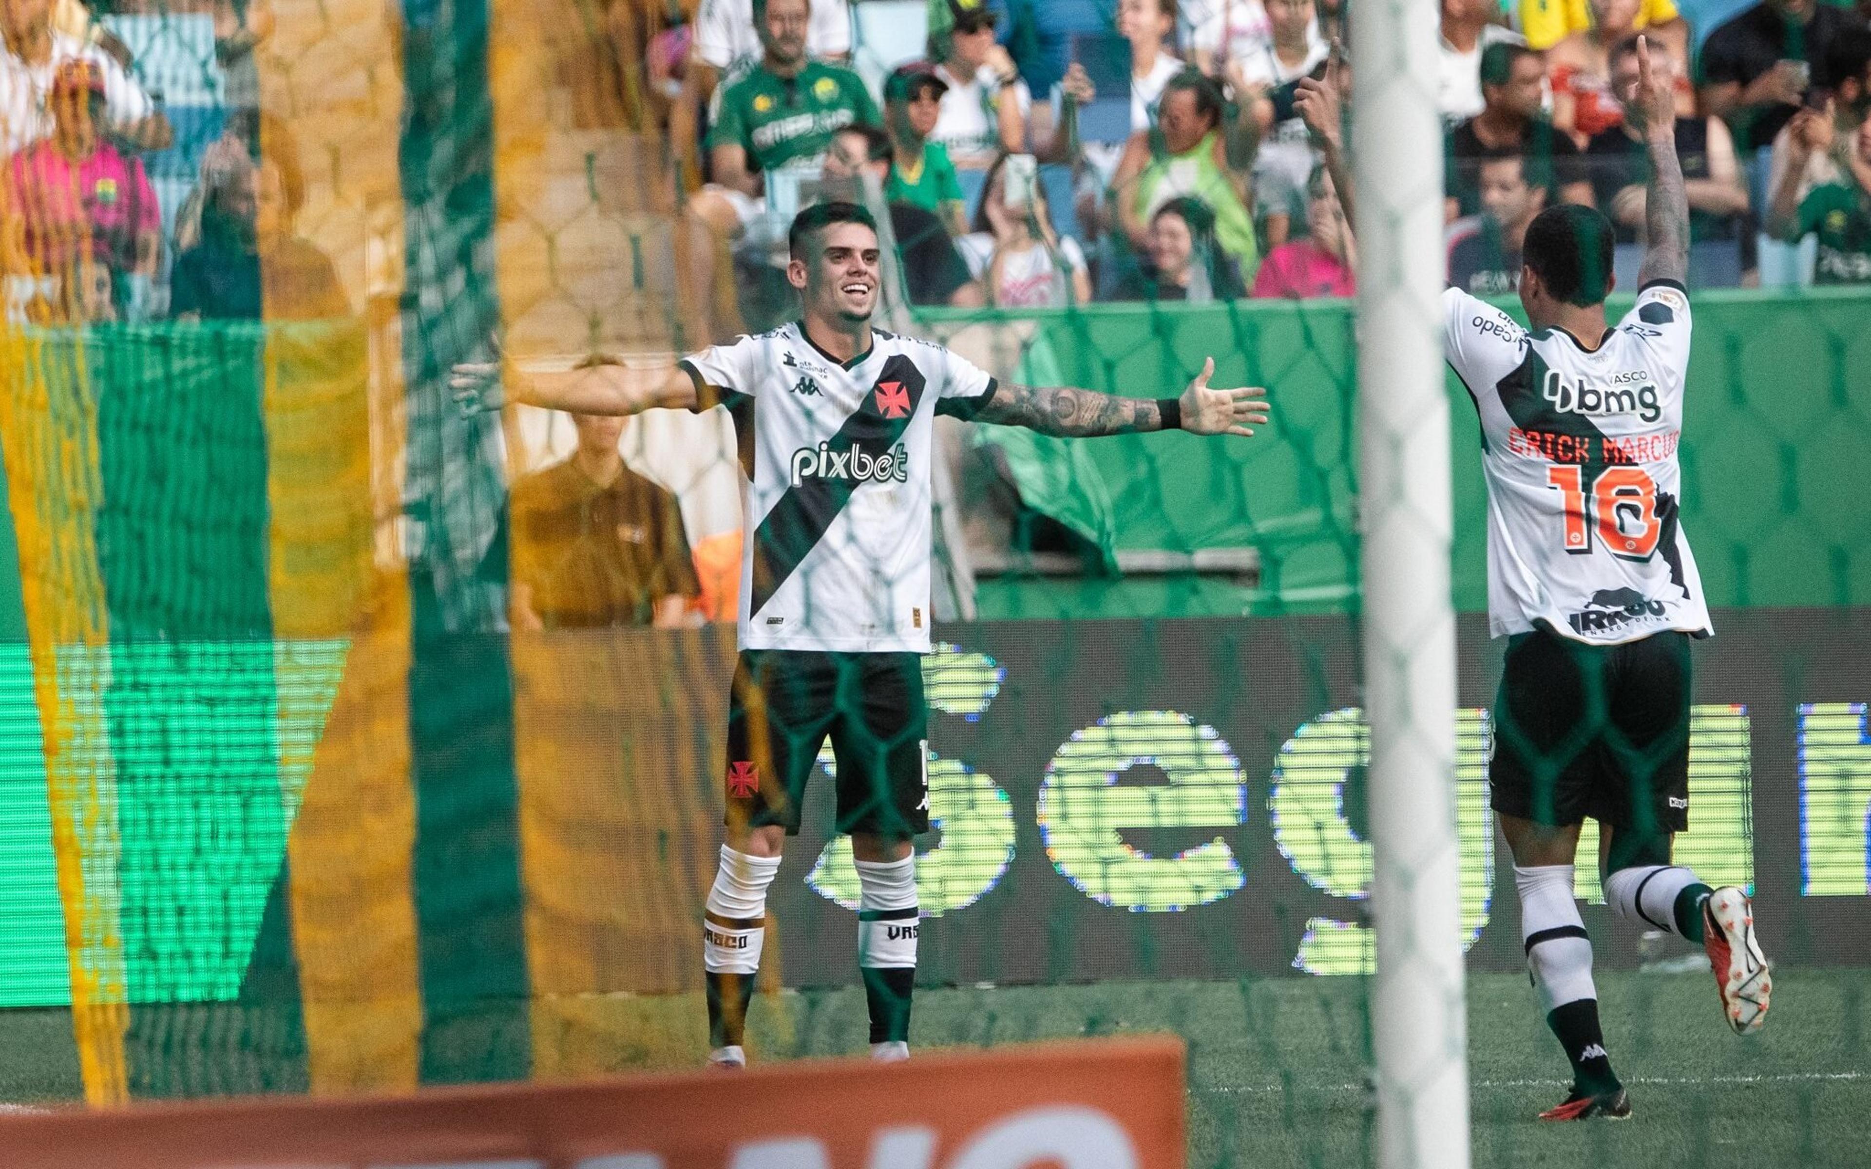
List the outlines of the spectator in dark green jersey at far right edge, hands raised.
<svg viewBox="0 0 1871 1169">
<path fill-rule="evenodd" d="M 1815 284 L 1871 284 L 1871 118 L 1841 150 L 1839 181 L 1820 183 L 1800 198 L 1800 176 L 1815 153 L 1832 150 L 1832 110 L 1802 108 L 1787 125 L 1789 165 L 1774 185 L 1766 226 L 1791 241 L 1819 236 Z"/>
</svg>

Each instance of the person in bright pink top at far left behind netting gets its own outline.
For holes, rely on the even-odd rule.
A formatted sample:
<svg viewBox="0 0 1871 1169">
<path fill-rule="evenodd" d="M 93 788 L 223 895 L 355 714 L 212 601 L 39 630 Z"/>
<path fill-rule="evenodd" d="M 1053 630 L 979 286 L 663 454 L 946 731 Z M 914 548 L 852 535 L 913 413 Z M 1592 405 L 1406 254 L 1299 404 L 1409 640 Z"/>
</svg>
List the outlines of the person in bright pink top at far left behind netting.
<svg viewBox="0 0 1871 1169">
<path fill-rule="evenodd" d="M 6 264 L 34 279 L 28 318 L 116 320 L 148 296 L 163 217 L 142 161 L 103 138 L 105 79 L 75 58 L 49 94 L 52 137 L 6 168 Z M 110 296 L 99 297 L 109 279 Z"/>
</svg>

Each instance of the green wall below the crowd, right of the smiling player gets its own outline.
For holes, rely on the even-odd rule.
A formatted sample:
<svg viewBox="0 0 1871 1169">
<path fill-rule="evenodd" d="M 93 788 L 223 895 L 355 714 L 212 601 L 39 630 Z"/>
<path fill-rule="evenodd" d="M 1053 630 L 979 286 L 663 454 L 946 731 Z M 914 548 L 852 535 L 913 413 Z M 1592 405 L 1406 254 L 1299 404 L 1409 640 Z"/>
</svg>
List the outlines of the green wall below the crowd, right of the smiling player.
<svg viewBox="0 0 1871 1169">
<path fill-rule="evenodd" d="M 1519 305 L 1499 301 L 1521 316 Z M 1684 406 L 1682 522 L 1712 608 L 1871 600 L 1871 290 L 1695 299 Z M 1613 297 L 1613 322 L 1630 297 Z M 932 335 L 1010 314 L 924 312 Z M 1267 385 L 1252 440 L 1130 434 L 1081 443 L 1115 507 L 1123 550 L 1254 546 L 1259 589 L 1220 580 L 990 580 L 982 615 L 1132 617 L 1343 612 L 1355 599 L 1356 393 L 1351 301 L 1091 305 L 1020 314 L 1037 327 L 1020 370 L 1156 398 L 1216 359 L 1216 385 Z M 1448 374 L 1456 507 L 1454 599 L 1487 608 L 1480 426 Z M 1018 473 L 1018 468 L 1016 468 Z M 1035 483 L 1057 477 L 1035 475 Z M 1066 511 L 1023 481 L 1038 511 Z M 1053 511 L 1050 511 L 1053 509 Z"/>
</svg>

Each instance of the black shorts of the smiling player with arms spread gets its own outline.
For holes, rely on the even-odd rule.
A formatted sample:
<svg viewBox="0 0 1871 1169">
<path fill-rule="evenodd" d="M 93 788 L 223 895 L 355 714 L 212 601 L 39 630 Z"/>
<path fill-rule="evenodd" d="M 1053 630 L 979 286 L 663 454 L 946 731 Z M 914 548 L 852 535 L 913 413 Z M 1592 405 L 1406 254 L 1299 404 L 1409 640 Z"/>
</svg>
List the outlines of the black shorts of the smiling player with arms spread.
<svg viewBox="0 0 1871 1169">
<path fill-rule="evenodd" d="M 819 748 L 836 761 L 838 832 L 928 832 L 928 707 L 919 653 L 748 649 L 728 703 L 728 827 L 782 825 Z"/>
</svg>

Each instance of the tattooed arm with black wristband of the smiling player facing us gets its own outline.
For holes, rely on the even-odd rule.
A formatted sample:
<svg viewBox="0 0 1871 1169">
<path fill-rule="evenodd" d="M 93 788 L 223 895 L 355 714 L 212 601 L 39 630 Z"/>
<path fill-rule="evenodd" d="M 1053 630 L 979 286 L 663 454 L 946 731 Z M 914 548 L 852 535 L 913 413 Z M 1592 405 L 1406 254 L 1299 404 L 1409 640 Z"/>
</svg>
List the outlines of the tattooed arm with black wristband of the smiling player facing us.
<svg viewBox="0 0 1871 1169">
<path fill-rule="evenodd" d="M 1096 438 L 1139 430 L 1190 430 L 1194 434 L 1254 434 L 1267 421 L 1267 391 L 1211 389 L 1211 357 L 1181 398 L 1119 398 L 1091 389 L 1016 385 L 1001 382 L 975 415 L 980 423 L 1025 426 L 1061 438 Z"/>
</svg>

